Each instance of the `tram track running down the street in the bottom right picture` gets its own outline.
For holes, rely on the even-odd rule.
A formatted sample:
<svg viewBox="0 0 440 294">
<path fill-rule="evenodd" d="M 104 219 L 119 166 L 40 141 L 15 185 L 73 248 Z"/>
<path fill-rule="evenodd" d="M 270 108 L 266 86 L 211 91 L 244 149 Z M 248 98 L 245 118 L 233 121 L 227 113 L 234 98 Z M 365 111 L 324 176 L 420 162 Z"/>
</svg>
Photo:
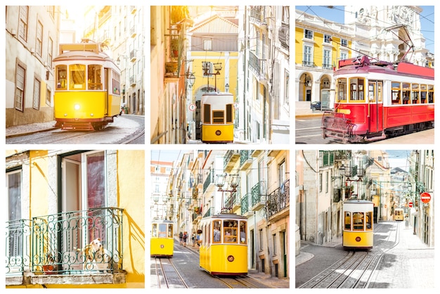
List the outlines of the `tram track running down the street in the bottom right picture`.
<svg viewBox="0 0 440 294">
<path fill-rule="evenodd" d="M 298 288 L 368 288 L 382 257 L 399 244 L 399 225 L 400 223 L 387 222 L 383 226 L 377 226 L 377 240 L 373 250 L 350 251 Z M 384 231 L 387 231 L 386 235 Z"/>
</svg>

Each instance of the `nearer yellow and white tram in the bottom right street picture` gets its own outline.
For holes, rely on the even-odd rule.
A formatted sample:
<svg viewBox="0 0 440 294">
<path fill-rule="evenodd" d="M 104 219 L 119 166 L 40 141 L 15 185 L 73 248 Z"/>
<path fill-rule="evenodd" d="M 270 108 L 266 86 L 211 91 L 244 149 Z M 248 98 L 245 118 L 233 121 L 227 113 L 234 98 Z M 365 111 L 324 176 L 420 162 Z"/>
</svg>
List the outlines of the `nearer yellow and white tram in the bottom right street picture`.
<svg viewBox="0 0 440 294">
<path fill-rule="evenodd" d="M 342 204 L 344 229 L 342 246 L 346 250 L 373 248 L 373 202 L 347 200 Z"/>
</svg>

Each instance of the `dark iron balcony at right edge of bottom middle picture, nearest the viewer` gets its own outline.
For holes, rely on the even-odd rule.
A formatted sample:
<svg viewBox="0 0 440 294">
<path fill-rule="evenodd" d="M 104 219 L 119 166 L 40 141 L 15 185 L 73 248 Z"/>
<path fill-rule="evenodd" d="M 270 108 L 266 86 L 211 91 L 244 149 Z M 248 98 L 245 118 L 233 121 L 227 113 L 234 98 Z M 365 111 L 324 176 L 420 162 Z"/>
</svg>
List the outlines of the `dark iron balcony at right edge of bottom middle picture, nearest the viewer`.
<svg viewBox="0 0 440 294">
<path fill-rule="evenodd" d="M 267 196 L 267 214 L 272 222 L 287 217 L 290 206 L 290 179 Z"/>
</svg>

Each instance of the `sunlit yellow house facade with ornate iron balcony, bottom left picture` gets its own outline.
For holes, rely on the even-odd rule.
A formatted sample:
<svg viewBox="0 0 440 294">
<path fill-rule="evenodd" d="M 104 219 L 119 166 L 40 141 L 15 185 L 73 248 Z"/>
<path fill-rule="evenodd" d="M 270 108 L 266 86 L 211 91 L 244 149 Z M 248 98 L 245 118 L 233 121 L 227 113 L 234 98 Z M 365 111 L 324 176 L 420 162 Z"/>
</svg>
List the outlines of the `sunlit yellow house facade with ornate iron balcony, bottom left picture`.
<svg viewBox="0 0 440 294">
<path fill-rule="evenodd" d="M 144 176 L 144 151 L 6 151 L 6 288 L 144 288 Z"/>
</svg>

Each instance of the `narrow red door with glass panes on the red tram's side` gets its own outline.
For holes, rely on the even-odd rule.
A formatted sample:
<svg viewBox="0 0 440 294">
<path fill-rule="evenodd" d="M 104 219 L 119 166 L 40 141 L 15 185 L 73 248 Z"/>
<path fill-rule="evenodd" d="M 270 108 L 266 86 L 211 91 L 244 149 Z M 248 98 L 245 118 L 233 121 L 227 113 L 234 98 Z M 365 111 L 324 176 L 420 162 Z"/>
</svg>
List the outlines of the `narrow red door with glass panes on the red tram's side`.
<svg viewBox="0 0 440 294">
<path fill-rule="evenodd" d="M 368 82 L 368 129 L 370 132 L 383 130 L 382 81 Z"/>
</svg>

